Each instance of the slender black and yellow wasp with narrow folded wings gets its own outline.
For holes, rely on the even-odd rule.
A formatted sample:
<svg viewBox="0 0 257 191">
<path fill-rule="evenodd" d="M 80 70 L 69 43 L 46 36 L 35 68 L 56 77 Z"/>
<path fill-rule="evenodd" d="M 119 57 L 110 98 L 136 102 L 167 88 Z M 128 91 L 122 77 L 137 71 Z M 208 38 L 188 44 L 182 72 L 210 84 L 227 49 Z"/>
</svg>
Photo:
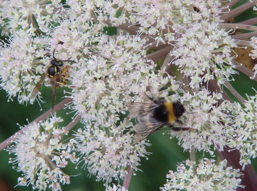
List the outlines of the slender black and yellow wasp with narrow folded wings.
<svg viewBox="0 0 257 191">
<path fill-rule="evenodd" d="M 40 81 L 35 85 L 35 88 L 33 89 L 31 93 L 31 98 L 35 98 L 36 95 L 38 95 L 39 88 L 41 87 L 44 79 L 46 76 L 48 76 L 51 81 L 50 84 L 52 86 L 52 109 L 54 108 L 55 102 L 56 102 L 56 88 L 59 88 L 60 85 L 66 85 L 68 82 L 68 77 L 69 77 L 69 71 L 68 68 L 70 66 L 64 66 L 63 67 L 63 62 L 74 62 L 72 60 L 58 60 L 56 57 L 54 57 L 54 51 L 52 57 L 53 59 L 50 62 L 49 67 L 47 68 L 46 73 L 44 76 L 40 79 Z"/>
</svg>

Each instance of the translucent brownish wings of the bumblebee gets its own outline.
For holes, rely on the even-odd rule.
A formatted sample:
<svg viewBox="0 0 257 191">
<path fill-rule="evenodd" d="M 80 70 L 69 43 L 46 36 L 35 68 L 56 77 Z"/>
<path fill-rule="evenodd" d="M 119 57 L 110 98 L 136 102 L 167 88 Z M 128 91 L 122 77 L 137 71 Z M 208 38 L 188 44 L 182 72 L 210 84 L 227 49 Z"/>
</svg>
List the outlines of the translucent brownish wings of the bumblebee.
<svg viewBox="0 0 257 191">
<path fill-rule="evenodd" d="M 134 102 L 127 104 L 128 111 L 138 119 L 138 128 L 135 133 L 134 142 L 144 140 L 164 125 L 152 117 L 152 113 L 157 106 L 156 103 Z"/>
</svg>

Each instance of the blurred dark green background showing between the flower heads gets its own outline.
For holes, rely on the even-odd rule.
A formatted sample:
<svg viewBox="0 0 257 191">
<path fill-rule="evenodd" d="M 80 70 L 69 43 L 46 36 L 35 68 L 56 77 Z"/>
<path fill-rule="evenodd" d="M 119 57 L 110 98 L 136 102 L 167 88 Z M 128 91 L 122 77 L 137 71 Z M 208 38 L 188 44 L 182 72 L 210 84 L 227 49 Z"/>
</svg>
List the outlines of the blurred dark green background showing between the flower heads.
<svg viewBox="0 0 257 191">
<path fill-rule="evenodd" d="M 244 1 L 241 1 L 242 4 Z M 236 5 L 235 5 L 236 6 Z M 240 22 L 241 18 L 245 16 L 248 18 L 249 15 L 252 16 L 252 11 L 244 13 L 244 15 L 239 15 L 235 19 L 235 23 Z M 110 28 L 109 28 L 110 29 Z M 111 27 L 111 30 L 108 30 L 108 34 L 115 34 L 115 28 Z M 248 32 L 248 31 L 246 31 Z M 256 81 L 250 80 L 249 77 L 240 74 L 234 75 L 234 82 L 231 84 L 234 86 L 236 91 L 238 91 L 242 96 L 245 97 L 245 94 L 255 95 L 254 88 L 257 90 Z M 63 90 L 65 88 L 57 89 L 57 100 L 56 103 L 59 103 L 62 99 Z M 38 103 L 34 103 L 34 105 L 20 105 L 14 98 L 14 101 L 7 101 L 7 94 L 4 90 L 0 90 L 0 142 L 6 140 L 6 138 L 13 135 L 15 132 L 19 131 L 20 128 L 16 124 L 20 124 L 21 126 L 27 125 L 26 119 L 29 122 L 34 120 L 36 117 L 40 116 L 47 110 L 51 108 L 51 88 L 46 87 L 42 90 L 43 100 L 46 103 L 41 103 L 42 111 L 40 111 L 40 107 Z M 230 95 L 230 94 L 229 94 Z M 246 97 L 245 97 L 246 98 Z M 235 100 L 235 99 L 234 99 Z M 72 114 L 66 115 L 69 110 L 62 110 L 58 112 L 57 116 L 61 116 L 64 118 L 63 124 L 61 126 L 65 126 L 70 121 Z M 67 122 L 68 121 L 68 122 Z M 74 129 L 76 130 L 79 127 L 83 127 L 82 125 L 77 125 Z M 139 190 L 139 191 L 155 191 L 159 190 L 159 187 L 162 187 L 163 184 L 166 183 L 166 175 L 169 170 L 176 171 L 177 164 L 186 161 L 189 158 L 189 152 L 184 152 L 183 149 L 177 145 L 177 140 L 173 138 L 172 140 L 169 138 L 169 135 L 163 132 L 168 130 L 168 128 L 163 128 L 160 131 L 150 135 L 149 142 L 152 144 L 147 148 L 148 152 L 151 152 L 148 156 L 148 160 L 145 158 L 141 159 L 141 166 L 139 168 L 142 171 L 137 171 L 136 176 L 132 176 L 130 191 Z M 197 153 L 197 161 L 203 156 L 203 152 Z M 217 154 L 216 154 L 217 156 Z M 32 190 L 31 186 L 14 186 L 17 184 L 17 178 L 21 177 L 21 172 L 16 172 L 12 169 L 12 164 L 9 164 L 9 158 L 14 158 L 14 155 L 9 155 L 6 151 L 1 151 L 0 155 L 0 183 L 7 183 L 9 188 L 7 190 Z M 204 157 L 209 157 L 208 154 L 205 153 Z M 216 158 L 216 160 L 219 160 Z M 257 171 L 257 163 L 256 159 L 252 160 L 252 164 L 254 166 L 255 171 Z M 105 190 L 103 186 L 103 182 L 96 182 L 95 176 L 88 177 L 87 169 L 81 169 L 81 165 L 79 165 L 78 169 L 75 169 L 74 164 L 68 164 L 67 168 L 65 168 L 64 172 L 70 176 L 70 185 L 62 186 L 63 190 L 73 190 L 73 191 L 101 191 Z M 76 176 L 78 175 L 78 176 Z M 116 184 L 118 182 L 115 182 Z M 122 184 L 122 182 L 120 182 Z"/>
</svg>

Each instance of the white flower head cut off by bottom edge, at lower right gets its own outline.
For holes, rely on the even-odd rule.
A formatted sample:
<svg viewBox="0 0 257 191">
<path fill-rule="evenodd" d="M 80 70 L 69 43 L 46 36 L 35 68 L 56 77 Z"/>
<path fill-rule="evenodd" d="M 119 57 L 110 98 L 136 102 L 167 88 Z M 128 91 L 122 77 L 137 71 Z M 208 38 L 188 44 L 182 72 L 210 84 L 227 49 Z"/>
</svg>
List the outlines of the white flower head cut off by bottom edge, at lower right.
<svg viewBox="0 0 257 191">
<path fill-rule="evenodd" d="M 167 184 L 161 190 L 236 190 L 240 185 L 242 175 L 239 169 L 227 167 L 227 160 L 218 164 L 212 159 L 202 159 L 199 164 L 186 161 L 186 165 L 180 163 L 177 171 L 170 171 L 167 175 Z"/>
</svg>

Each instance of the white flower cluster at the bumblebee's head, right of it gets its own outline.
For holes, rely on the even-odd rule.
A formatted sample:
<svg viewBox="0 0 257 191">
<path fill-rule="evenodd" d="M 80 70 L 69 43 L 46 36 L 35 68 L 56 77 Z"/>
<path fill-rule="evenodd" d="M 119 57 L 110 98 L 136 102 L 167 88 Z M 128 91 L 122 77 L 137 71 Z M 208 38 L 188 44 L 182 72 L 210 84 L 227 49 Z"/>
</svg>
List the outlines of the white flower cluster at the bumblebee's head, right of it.
<svg viewBox="0 0 257 191">
<path fill-rule="evenodd" d="M 179 95 L 177 95 L 179 97 Z M 179 100 L 185 103 L 188 111 L 182 127 L 191 127 L 192 131 L 170 131 L 172 137 L 178 138 L 178 144 L 188 150 L 195 148 L 213 154 L 214 149 L 223 150 L 227 140 L 234 135 L 231 124 L 234 123 L 229 111 L 233 103 L 222 101 L 222 94 L 210 93 L 206 89 L 190 94 L 184 92 Z"/>
</svg>

